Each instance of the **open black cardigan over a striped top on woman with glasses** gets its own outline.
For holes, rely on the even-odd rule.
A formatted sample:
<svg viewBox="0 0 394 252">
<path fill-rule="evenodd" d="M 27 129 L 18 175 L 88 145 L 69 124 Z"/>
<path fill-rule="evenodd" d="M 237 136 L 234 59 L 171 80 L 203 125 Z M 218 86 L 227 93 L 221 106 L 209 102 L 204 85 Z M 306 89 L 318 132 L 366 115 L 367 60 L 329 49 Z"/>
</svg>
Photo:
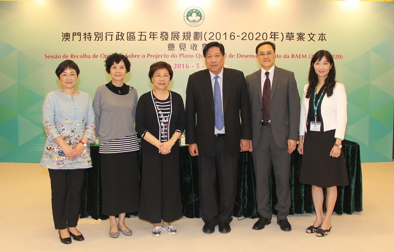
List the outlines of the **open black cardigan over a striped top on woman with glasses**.
<svg viewBox="0 0 394 252">
<path fill-rule="evenodd" d="M 173 91 L 168 91 L 171 96 L 171 116 L 168 123 L 168 134 L 169 138 L 171 138 L 175 130 L 181 132 L 185 130 L 186 116 L 182 96 Z M 152 95 L 152 91 L 150 91 L 139 97 L 136 108 L 136 131 L 140 136 L 142 136 L 145 131 L 149 131 L 149 133 L 158 139 L 160 123 L 157 119 L 156 107 Z M 173 146 L 173 150 L 176 149 L 179 149 L 178 140 Z M 157 153 L 159 151 L 156 146 L 145 141 L 143 138 L 141 138 L 141 150 L 151 153 Z"/>
</svg>

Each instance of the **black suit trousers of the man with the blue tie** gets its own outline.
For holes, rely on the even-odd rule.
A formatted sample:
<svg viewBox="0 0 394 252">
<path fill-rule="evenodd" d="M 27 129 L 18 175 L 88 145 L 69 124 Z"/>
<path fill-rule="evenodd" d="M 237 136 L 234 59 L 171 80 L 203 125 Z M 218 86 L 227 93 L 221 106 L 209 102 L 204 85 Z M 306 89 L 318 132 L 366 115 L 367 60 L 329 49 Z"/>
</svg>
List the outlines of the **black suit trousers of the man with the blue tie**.
<svg viewBox="0 0 394 252">
<path fill-rule="evenodd" d="M 201 217 L 205 223 L 230 223 L 237 190 L 239 153 L 227 153 L 225 136 L 215 137 L 212 156 L 197 156 Z M 217 199 L 216 170 L 219 173 L 220 202 Z"/>
</svg>

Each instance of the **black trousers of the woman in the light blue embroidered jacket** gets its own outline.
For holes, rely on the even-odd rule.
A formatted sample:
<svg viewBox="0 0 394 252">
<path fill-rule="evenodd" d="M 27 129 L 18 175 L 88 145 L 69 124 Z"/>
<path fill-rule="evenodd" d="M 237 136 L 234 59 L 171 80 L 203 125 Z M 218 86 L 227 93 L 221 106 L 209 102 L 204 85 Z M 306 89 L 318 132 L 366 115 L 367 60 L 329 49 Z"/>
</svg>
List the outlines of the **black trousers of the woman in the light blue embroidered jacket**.
<svg viewBox="0 0 394 252">
<path fill-rule="evenodd" d="M 48 171 L 55 228 L 74 228 L 78 224 L 86 169 L 48 169 Z"/>
</svg>

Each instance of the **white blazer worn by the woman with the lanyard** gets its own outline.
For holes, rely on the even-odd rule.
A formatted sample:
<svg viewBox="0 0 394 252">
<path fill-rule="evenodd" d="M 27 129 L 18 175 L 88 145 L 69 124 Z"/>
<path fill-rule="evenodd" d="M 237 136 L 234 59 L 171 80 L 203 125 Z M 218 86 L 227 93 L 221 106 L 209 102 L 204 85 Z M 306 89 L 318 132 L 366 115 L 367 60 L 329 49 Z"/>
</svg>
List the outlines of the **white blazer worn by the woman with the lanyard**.
<svg viewBox="0 0 394 252">
<path fill-rule="evenodd" d="M 299 124 L 299 135 L 305 136 L 307 130 L 307 119 L 309 110 L 309 98 L 305 98 L 308 85 L 304 86 L 304 95 L 301 104 L 301 117 Z M 312 90 L 312 93 L 314 91 Z M 312 96 L 310 96 L 312 97 Z M 330 131 L 335 129 L 335 138 L 344 139 L 346 123 L 348 121 L 347 107 L 348 100 L 346 97 L 345 86 L 338 81 L 335 84 L 333 95 L 331 97 L 327 96 L 327 93 L 322 99 L 322 119 L 324 125 L 324 131 Z"/>
</svg>

